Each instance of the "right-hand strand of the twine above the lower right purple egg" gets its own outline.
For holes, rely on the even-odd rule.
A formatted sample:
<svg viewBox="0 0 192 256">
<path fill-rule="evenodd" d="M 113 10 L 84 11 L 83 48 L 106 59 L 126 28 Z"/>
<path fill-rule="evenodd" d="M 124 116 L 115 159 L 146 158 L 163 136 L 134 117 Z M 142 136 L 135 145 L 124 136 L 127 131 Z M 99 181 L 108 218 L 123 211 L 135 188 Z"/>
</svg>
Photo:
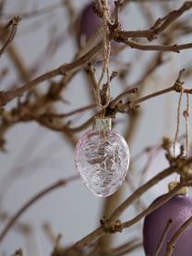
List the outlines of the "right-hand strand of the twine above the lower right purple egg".
<svg viewBox="0 0 192 256">
<path fill-rule="evenodd" d="M 190 101 L 189 101 L 189 94 L 186 93 L 186 110 L 183 113 L 186 119 L 186 157 L 189 154 L 189 147 L 190 147 L 190 129 L 189 129 L 189 116 L 190 116 Z"/>
</svg>

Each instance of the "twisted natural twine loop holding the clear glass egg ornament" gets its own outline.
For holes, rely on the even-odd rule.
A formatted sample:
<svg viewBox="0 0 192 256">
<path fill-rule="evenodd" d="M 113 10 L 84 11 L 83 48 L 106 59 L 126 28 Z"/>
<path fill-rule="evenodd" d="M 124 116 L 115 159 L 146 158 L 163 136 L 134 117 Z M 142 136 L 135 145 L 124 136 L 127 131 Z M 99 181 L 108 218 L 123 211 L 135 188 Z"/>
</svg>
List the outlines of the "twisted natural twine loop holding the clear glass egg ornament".
<svg viewBox="0 0 192 256">
<path fill-rule="evenodd" d="M 104 116 L 105 108 L 110 103 L 110 73 L 109 73 L 109 60 L 111 55 L 111 43 L 109 39 L 109 27 L 108 27 L 108 21 L 110 20 L 110 9 L 108 0 L 98 0 L 98 4 L 100 6 L 100 9 L 102 10 L 102 19 L 103 19 L 103 26 L 102 26 L 102 74 L 99 79 L 98 85 L 97 85 L 97 91 L 96 91 L 96 102 L 97 106 L 102 110 L 102 115 Z M 106 75 L 106 84 L 103 85 L 103 88 L 101 90 L 101 84 L 102 80 L 104 79 L 104 76 Z M 105 96 L 105 102 L 103 104 L 102 101 L 102 92 Z"/>
</svg>

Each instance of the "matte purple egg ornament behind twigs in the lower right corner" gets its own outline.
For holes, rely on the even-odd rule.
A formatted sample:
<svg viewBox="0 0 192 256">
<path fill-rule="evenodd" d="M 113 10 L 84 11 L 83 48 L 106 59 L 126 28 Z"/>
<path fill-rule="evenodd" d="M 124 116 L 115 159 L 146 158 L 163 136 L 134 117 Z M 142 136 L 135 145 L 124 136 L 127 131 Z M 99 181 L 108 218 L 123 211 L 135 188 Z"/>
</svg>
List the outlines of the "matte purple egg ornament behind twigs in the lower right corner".
<svg viewBox="0 0 192 256">
<path fill-rule="evenodd" d="M 145 218 L 143 226 L 143 246 L 146 255 L 155 255 L 154 253 L 157 250 L 165 226 L 167 226 L 168 221 L 171 219 L 173 223 L 167 231 L 162 248 L 158 254 L 158 256 L 165 256 L 167 243 L 174 236 L 176 230 L 191 216 L 192 199 L 186 193 L 174 196 L 174 198 L 150 213 Z M 191 256 L 191 243 L 192 226 L 189 226 L 177 239 L 172 256 Z"/>
</svg>

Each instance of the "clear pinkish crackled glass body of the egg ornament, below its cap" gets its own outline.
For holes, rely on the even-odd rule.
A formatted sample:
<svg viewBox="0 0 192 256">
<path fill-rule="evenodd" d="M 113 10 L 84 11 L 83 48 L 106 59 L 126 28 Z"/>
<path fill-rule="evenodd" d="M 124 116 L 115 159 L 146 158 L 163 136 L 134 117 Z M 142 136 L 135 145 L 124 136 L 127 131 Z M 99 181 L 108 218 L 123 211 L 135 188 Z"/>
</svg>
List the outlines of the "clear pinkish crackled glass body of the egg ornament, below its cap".
<svg viewBox="0 0 192 256">
<path fill-rule="evenodd" d="M 78 141 L 75 161 L 85 185 L 95 195 L 107 197 L 126 177 L 129 149 L 114 131 L 89 131 Z"/>
</svg>

